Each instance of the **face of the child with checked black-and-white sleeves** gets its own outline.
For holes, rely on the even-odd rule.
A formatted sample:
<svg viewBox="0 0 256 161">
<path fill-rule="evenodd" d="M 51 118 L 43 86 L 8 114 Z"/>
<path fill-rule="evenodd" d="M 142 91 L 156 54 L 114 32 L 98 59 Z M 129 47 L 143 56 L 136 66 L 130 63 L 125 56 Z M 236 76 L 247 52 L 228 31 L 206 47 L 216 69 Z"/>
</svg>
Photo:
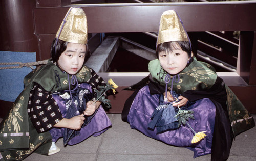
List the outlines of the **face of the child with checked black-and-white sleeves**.
<svg viewBox="0 0 256 161">
<path fill-rule="evenodd" d="M 75 75 L 82 68 L 85 55 L 85 44 L 68 43 L 66 50 L 61 53 L 57 62 L 63 71 Z"/>
</svg>

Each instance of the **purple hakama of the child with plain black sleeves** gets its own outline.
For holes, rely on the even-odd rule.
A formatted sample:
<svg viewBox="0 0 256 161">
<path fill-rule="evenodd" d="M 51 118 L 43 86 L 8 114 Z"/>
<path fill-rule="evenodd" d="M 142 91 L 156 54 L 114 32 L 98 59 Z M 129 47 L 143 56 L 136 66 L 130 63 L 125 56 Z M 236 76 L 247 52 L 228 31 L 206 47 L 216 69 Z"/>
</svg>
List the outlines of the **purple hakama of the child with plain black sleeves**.
<svg viewBox="0 0 256 161">
<path fill-rule="evenodd" d="M 187 125 L 181 125 L 181 127 L 176 130 L 169 130 L 159 134 L 157 134 L 156 128 L 154 131 L 148 129 L 148 123 L 151 122 L 151 115 L 158 105 L 159 95 L 151 95 L 148 86 L 141 88 L 136 95 L 127 116 L 127 121 L 130 123 L 131 128 L 137 129 L 146 136 L 166 144 L 186 147 L 194 151 L 194 158 L 211 153 L 216 108 L 210 99 L 203 98 L 195 101 L 194 104 L 191 105 L 191 110 L 194 111 L 195 120 L 189 119 L 189 125 L 196 133 L 206 131 L 205 134 L 207 135 L 196 144 L 191 143 L 194 133 Z"/>
</svg>

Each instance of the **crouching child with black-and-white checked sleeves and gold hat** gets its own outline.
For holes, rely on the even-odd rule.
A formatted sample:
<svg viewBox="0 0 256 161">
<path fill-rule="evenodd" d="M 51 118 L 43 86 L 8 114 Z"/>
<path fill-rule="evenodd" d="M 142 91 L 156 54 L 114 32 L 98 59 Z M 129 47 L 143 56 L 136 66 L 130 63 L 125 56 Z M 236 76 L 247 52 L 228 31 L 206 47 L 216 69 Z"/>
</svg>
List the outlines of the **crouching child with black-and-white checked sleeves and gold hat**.
<svg viewBox="0 0 256 161">
<path fill-rule="evenodd" d="M 70 8 L 52 43 L 52 58 L 24 78 L 24 91 L 1 122 L 1 160 L 22 160 L 34 151 L 52 155 L 60 150 L 54 144 L 60 137 L 74 145 L 111 126 L 95 92 L 106 83 L 84 65 L 87 36 L 84 11 Z"/>
</svg>

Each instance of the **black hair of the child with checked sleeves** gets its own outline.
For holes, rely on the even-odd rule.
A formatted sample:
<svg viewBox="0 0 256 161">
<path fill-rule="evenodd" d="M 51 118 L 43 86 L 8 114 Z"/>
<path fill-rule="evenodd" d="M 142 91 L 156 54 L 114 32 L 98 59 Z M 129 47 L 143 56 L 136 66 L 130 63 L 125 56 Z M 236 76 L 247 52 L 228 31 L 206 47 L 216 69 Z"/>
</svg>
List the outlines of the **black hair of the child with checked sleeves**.
<svg viewBox="0 0 256 161">
<path fill-rule="evenodd" d="M 67 49 L 67 45 L 69 43 L 67 41 L 58 39 L 57 44 L 56 44 L 56 40 L 57 40 L 57 38 L 55 38 L 53 40 L 52 45 L 51 45 L 51 56 L 52 56 L 53 62 L 57 62 L 59 60 L 61 53 L 63 53 Z M 55 46 L 56 46 L 56 53 L 55 53 Z M 84 58 L 84 63 L 88 60 L 90 55 L 91 54 L 90 54 L 88 44 L 86 44 L 86 56 Z"/>
</svg>

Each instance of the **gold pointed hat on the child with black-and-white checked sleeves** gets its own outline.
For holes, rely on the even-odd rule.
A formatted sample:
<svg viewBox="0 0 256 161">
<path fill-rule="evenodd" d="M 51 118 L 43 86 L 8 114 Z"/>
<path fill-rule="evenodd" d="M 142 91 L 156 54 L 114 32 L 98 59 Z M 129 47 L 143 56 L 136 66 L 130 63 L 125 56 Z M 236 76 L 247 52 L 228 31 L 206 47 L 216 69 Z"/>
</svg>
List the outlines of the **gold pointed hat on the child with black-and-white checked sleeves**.
<svg viewBox="0 0 256 161">
<path fill-rule="evenodd" d="M 87 19 L 83 9 L 71 7 L 63 19 L 56 38 L 72 43 L 87 43 Z"/>
</svg>

